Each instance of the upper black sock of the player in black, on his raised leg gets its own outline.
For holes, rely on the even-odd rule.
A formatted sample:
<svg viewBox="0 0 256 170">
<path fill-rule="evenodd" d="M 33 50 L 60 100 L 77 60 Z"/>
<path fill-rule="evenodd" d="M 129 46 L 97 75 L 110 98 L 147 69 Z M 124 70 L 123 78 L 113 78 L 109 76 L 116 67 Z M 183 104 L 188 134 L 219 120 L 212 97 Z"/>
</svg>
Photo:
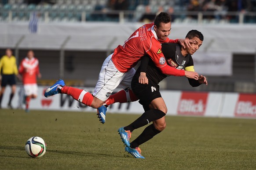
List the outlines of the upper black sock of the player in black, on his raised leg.
<svg viewBox="0 0 256 170">
<path fill-rule="evenodd" d="M 151 121 L 160 119 L 165 116 L 165 113 L 158 109 L 148 110 L 144 112 L 137 120 L 124 127 L 125 131 L 133 131 L 139 127 L 143 127 L 146 124 L 150 124 Z"/>
</svg>

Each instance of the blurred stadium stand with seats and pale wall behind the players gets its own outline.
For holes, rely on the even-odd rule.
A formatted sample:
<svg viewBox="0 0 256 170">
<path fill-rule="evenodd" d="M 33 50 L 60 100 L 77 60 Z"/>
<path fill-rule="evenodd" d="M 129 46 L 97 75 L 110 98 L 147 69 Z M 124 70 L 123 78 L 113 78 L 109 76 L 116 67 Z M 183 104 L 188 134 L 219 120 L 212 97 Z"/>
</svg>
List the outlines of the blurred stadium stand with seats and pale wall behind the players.
<svg viewBox="0 0 256 170">
<path fill-rule="evenodd" d="M 205 35 L 193 57 L 208 77 L 198 88 L 166 78 L 162 89 L 256 92 L 256 0 L 0 0 L 0 55 L 11 48 L 19 63 L 31 49 L 39 84 L 93 87 L 104 59 L 161 11 L 172 15 L 170 39 Z"/>
</svg>

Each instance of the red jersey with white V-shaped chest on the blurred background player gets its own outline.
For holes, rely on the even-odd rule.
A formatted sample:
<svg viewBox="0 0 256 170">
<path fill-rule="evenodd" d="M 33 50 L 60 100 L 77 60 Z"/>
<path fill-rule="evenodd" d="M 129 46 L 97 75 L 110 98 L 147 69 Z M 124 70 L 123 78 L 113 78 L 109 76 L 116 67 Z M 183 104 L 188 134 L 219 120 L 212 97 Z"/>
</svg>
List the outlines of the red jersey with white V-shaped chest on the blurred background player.
<svg viewBox="0 0 256 170">
<path fill-rule="evenodd" d="M 22 74 L 23 84 L 37 83 L 37 75 L 39 74 L 39 61 L 33 57 L 29 60 L 28 57 L 24 58 L 18 68 L 19 74 Z"/>
</svg>

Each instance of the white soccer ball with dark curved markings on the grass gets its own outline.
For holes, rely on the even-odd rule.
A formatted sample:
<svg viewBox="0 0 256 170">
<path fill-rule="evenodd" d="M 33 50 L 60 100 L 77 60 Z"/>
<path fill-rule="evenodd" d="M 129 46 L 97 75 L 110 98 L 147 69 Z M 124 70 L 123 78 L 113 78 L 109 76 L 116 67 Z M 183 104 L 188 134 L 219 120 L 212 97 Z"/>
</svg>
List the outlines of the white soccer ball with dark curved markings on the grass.
<svg viewBox="0 0 256 170">
<path fill-rule="evenodd" d="M 40 137 L 32 137 L 27 140 L 25 150 L 29 156 L 39 158 L 46 152 L 46 143 Z"/>
</svg>

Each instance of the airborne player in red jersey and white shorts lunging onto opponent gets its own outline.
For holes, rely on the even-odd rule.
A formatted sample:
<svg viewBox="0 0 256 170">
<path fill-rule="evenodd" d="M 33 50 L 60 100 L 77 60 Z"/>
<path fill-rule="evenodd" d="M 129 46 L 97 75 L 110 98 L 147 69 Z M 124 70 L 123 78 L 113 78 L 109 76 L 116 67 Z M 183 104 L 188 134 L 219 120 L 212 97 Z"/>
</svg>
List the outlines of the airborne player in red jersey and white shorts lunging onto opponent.
<svg viewBox="0 0 256 170">
<path fill-rule="evenodd" d="M 165 12 L 157 15 L 154 23 L 145 24 L 138 28 L 124 45 L 119 45 L 114 53 L 104 61 L 99 73 L 99 80 L 95 86 L 93 94 L 86 92 L 83 89 L 76 89 L 65 85 L 63 80 L 57 81 L 54 85 L 46 89 L 44 96 L 49 97 L 58 93 L 68 94 L 80 103 L 93 108 L 99 108 L 104 101 L 108 99 L 110 94 L 118 85 L 123 89 L 131 89 L 132 77 L 135 74 L 133 68 L 145 55 L 149 55 L 154 64 L 163 74 L 174 76 L 186 76 L 188 78 L 198 79 L 198 74 L 193 71 L 177 70 L 166 64 L 165 57 L 161 52 L 161 42 L 180 43 L 184 46 L 190 46 L 190 40 L 185 39 L 168 39 L 171 31 L 171 16 Z M 185 47 L 185 46 L 184 46 Z M 129 90 L 129 95 L 132 91 Z M 132 96 L 130 98 L 132 99 Z M 101 107 L 105 110 L 106 107 Z M 102 123 L 105 122 L 105 114 L 98 110 L 99 118 Z"/>
</svg>

